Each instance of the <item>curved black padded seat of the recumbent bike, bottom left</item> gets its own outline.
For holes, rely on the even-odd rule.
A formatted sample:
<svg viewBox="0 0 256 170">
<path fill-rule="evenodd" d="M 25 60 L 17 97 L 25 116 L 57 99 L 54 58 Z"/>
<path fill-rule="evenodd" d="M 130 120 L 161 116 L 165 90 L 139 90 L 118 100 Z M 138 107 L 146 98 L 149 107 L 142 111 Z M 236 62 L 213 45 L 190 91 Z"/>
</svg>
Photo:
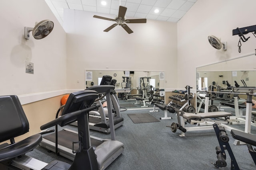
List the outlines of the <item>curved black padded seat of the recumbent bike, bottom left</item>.
<svg viewBox="0 0 256 170">
<path fill-rule="evenodd" d="M 35 149 L 41 141 L 42 135 L 36 134 L 0 149 L 0 162 L 15 158 L 16 156 L 20 156 Z"/>
</svg>

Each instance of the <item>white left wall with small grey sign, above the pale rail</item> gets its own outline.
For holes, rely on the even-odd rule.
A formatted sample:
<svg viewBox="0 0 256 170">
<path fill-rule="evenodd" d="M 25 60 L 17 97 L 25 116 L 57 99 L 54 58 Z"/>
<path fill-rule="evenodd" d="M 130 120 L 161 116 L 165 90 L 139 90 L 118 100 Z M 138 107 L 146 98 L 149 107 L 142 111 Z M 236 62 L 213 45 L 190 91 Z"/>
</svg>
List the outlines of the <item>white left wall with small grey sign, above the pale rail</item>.
<svg viewBox="0 0 256 170">
<path fill-rule="evenodd" d="M 52 20 L 44 39 L 24 39 L 24 27 Z M 66 33 L 44 0 L 0 2 L 0 95 L 28 95 L 66 90 Z M 26 73 L 25 61 L 34 63 Z M 54 96 L 54 95 L 53 95 Z"/>
</svg>

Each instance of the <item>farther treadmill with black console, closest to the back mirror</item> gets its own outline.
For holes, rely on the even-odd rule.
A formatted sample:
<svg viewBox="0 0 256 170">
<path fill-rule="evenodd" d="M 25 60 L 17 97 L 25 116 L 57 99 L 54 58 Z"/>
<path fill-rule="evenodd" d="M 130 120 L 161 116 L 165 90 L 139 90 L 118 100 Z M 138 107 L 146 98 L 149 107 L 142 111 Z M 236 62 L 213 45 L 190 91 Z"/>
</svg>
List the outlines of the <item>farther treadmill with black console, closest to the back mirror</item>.
<svg viewBox="0 0 256 170">
<path fill-rule="evenodd" d="M 98 94 L 105 94 L 106 89 L 101 88 L 105 85 L 114 85 L 116 84 L 116 80 L 112 79 L 112 76 L 105 75 L 102 77 L 102 80 L 100 82 L 100 86 L 92 86 L 89 88 L 86 88 L 86 90 L 95 90 L 98 92 Z M 113 90 L 113 92 L 110 94 L 112 105 L 114 106 L 114 110 L 116 115 L 113 117 L 114 119 L 114 129 L 117 129 L 118 127 L 121 127 L 124 124 L 124 119 L 121 117 L 120 113 L 120 106 L 118 102 L 118 97 L 116 95 L 116 92 Z M 100 100 L 96 101 L 96 104 L 100 104 L 100 107 L 98 108 L 98 112 L 100 116 L 98 115 L 91 115 L 89 113 L 89 128 L 95 131 L 100 131 L 109 134 L 110 133 L 110 122 L 109 118 L 106 117 L 104 107 L 102 106 L 102 103 Z M 109 106 L 109 104 L 108 104 Z M 108 110 L 111 109 L 111 113 L 113 112 L 112 107 L 108 107 Z M 95 113 L 95 111 L 93 111 Z M 109 112 L 108 112 L 109 114 Z M 71 125 L 77 126 L 77 122 L 72 123 Z"/>
</svg>

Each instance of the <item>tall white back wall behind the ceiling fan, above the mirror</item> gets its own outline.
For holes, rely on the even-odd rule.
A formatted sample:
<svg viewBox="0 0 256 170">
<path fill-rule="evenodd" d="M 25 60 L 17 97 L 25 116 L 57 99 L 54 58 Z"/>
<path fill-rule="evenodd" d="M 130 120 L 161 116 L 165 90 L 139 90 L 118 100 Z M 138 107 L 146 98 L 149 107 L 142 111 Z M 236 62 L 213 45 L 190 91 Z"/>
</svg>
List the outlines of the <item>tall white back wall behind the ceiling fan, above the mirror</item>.
<svg viewBox="0 0 256 170">
<path fill-rule="evenodd" d="M 64 10 L 68 88 L 84 88 L 84 70 L 105 69 L 165 71 L 166 88 L 177 86 L 176 23 L 147 20 L 127 24 L 134 31 L 131 34 L 119 25 L 104 32 L 114 22 L 93 15 L 114 18 L 108 14 Z"/>
</svg>

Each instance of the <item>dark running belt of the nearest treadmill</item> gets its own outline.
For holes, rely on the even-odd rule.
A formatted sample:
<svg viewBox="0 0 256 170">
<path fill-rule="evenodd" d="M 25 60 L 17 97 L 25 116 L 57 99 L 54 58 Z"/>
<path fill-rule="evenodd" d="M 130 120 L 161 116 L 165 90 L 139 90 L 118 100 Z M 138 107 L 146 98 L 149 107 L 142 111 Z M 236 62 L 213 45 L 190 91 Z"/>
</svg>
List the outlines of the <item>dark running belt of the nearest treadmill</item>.
<svg viewBox="0 0 256 170">
<path fill-rule="evenodd" d="M 51 133 L 50 135 L 46 135 L 43 137 L 44 139 L 47 139 L 48 141 L 52 141 L 55 143 L 55 133 Z M 92 146 L 98 146 L 102 143 L 102 141 L 98 141 L 96 139 L 90 139 Z M 72 142 L 78 141 L 78 135 L 76 133 L 72 133 L 69 131 L 58 131 L 58 144 L 61 146 L 64 146 L 68 149 L 72 149 L 73 145 Z M 78 150 L 78 143 L 74 143 L 74 150 Z"/>
</svg>

